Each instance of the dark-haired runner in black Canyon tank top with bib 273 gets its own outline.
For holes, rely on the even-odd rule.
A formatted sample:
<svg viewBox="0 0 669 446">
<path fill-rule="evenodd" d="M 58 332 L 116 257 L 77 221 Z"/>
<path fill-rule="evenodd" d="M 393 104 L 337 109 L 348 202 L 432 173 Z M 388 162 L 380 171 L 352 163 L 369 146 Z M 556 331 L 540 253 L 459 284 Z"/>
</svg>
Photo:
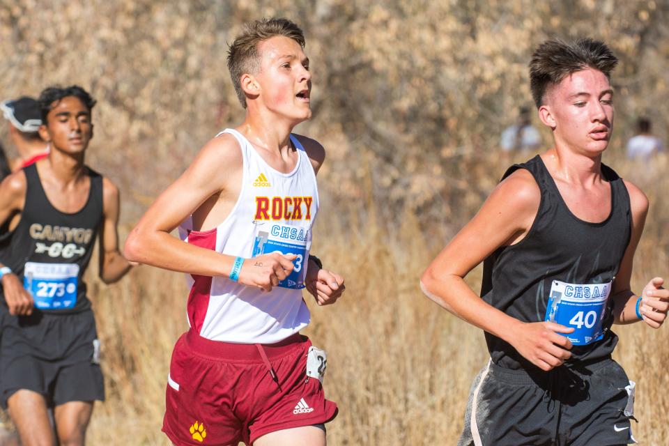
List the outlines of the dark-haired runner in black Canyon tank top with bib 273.
<svg viewBox="0 0 669 446">
<path fill-rule="evenodd" d="M 83 281 L 98 234 L 103 282 L 130 263 L 118 251 L 118 189 L 84 164 L 95 101 L 56 87 L 40 105 L 52 150 L 0 185 L 0 404 L 24 444 L 83 445 L 93 401 L 105 397 Z"/>
</svg>

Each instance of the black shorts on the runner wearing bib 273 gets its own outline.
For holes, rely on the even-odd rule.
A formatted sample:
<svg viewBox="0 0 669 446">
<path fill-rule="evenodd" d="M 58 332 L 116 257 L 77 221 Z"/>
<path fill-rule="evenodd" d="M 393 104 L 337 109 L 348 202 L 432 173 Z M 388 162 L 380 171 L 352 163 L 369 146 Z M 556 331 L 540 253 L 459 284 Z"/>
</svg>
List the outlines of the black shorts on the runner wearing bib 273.
<svg viewBox="0 0 669 446">
<path fill-rule="evenodd" d="M 43 394 L 47 406 L 105 399 L 93 312 L 11 316 L 0 339 L 0 405 L 18 390 Z"/>
</svg>

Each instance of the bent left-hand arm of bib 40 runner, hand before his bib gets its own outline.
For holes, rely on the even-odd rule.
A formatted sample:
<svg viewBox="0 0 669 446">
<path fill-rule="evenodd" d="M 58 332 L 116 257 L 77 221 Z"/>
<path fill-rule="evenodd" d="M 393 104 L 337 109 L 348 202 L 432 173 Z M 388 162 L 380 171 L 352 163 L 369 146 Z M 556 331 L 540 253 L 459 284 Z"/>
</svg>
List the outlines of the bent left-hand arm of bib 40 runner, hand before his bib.
<svg viewBox="0 0 669 446">
<path fill-rule="evenodd" d="M 523 323 L 484 302 L 464 277 L 495 249 L 517 243 L 532 226 L 541 195 L 532 175 L 519 169 L 493 190 L 479 213 L 463 227 L 432 261 L 421 278 L 421 288 L 452 314 L 509 342 L 541 369 L 557 367 L 571 353 L 571 332 L 550 322 Z"/>
</svg>

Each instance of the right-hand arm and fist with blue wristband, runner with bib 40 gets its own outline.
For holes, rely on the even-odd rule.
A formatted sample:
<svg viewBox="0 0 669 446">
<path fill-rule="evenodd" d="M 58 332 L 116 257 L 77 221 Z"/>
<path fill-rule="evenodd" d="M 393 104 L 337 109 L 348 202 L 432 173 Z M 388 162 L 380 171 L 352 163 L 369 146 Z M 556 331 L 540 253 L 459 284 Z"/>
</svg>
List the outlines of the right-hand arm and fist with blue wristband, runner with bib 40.
<svg viewBox="0 0 669 446">
<path fill-rule="evenodd" d="M 640 320 L 636 315 L 638 297 L 631 291 L 630 282 L 634 253 L 643 233 L 649 206 L 647 197 L 636 185 L 625 181 L 625 186 L 629 193 L 632 213 L 632 233 L 613 283 L 613 316 L 614 323 L 618 324 L 634 323 Z M 642 291 L 644 300 L 643 305 L 640 305 L 640 312 L 644 316 L 644 321 L 653 328 L 659 328 L 662 325 L 669 309 L 669 291 L 663 289 L 662 284 L 663 279 L 655 277 Z"/>
</svg>

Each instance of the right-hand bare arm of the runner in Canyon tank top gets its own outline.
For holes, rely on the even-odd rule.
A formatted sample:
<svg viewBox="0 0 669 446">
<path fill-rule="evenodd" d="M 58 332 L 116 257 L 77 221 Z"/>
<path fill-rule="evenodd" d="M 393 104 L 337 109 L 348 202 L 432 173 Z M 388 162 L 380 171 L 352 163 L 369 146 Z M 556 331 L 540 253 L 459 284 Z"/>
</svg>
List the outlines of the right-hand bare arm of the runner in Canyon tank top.
<svg viewBox="0 0 669 446">
<path fill-rule="evenodd" d="M 102 178 L 102 206 L 104 217 L 100 225 L 100 279 L 105 284 L 112 284 L 121 279 L 131 266 L 118 250 L 121 197 L 118 187 L 107 178 Z"/>
</svg>

